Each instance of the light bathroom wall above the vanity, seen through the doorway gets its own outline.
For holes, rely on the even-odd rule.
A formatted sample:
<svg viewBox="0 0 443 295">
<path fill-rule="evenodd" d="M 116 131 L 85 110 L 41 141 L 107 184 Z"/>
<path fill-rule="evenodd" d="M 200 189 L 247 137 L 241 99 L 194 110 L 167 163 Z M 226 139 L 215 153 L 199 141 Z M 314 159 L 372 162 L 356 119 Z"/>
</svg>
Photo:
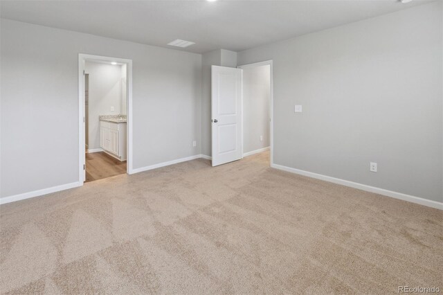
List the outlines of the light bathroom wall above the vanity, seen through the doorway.
<svg viewBox="0 0 443 295">
<path fill-rule="evenodd" d="M 89 141 L 88 149 L 100 148 L 100 120 L 98 116 L 122 114 L 122 66 L 86 62 L 89 73 Z M 111 111 L 114 107 L 114 111 Z"/>
</svg>

